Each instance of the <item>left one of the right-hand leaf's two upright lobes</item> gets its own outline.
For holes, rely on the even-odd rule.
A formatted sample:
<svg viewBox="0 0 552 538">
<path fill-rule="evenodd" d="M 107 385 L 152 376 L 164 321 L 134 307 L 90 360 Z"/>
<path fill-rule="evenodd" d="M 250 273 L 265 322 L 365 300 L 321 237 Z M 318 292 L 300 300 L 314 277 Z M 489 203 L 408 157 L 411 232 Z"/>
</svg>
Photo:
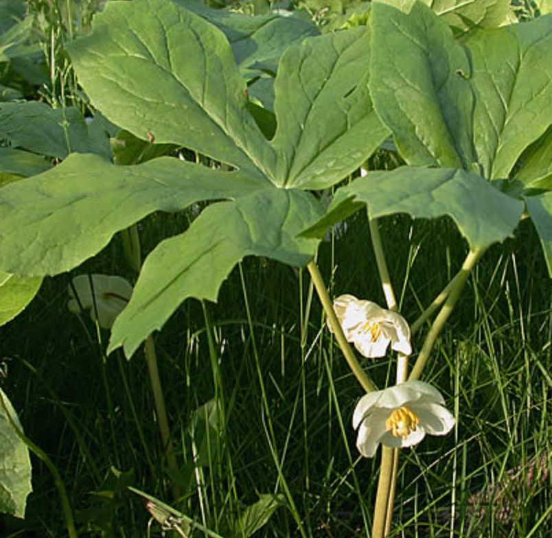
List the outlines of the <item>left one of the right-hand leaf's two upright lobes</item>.
<svg viewBox="0 0 552 538">
<path fill-rule="evenodd" d="M 371 96 L 407 163 L 470 167 L 470 62 L 450 27 L 418 2 L 372 6 Z"/>
</svg>

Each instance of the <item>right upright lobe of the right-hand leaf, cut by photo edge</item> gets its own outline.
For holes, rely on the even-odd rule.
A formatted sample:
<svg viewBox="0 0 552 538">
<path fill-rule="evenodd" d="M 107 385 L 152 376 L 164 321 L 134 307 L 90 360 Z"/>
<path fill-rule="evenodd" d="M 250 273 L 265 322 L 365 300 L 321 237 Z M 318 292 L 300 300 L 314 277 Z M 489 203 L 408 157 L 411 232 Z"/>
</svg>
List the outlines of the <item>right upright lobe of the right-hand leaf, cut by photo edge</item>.
<svg viewBox="0 0 552 538">
<path fill-rule="evenodd" d="M 483 175 L 507 178 L 552 124 L 552 16 L 468 39 L 476 92 L 474 143 Z"/>
</svg>

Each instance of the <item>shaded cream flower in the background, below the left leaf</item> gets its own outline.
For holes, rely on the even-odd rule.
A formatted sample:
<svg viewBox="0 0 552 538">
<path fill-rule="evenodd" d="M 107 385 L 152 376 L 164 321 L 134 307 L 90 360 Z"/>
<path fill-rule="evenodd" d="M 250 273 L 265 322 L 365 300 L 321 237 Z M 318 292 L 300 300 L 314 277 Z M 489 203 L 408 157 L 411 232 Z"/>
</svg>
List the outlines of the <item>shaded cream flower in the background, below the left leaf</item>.
<svg viewBox="0 0 552 538">
<path fill-rule="evenodd" d="M 92 285 L 91 285 L 92 284 Z M 78 295 L 78 300 L 73 292 L 73 287 Z M 100 327 L 111 329 L 115 318 L 122 312 L 130 296 L 133 287 L 122 277 L 114 277 L 108 274 L 79 274 L 73 278 L 73 285 L 69 285 L 69 302 L 67 307 L 71 312 L 78 314 L 81 307 L 90 308 L 90 317 L 97 320 Z M 79 304 L 80 301 L 80 304 Z"/>
</svg>

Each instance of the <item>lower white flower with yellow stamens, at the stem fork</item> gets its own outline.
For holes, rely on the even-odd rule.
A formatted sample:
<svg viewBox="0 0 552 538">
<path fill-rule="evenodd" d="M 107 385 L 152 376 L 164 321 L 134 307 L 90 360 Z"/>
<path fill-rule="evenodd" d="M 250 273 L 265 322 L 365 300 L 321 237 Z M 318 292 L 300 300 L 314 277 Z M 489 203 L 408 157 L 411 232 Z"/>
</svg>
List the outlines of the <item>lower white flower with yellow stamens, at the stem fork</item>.
<svg viewBox="0 0 552 538">
<path fill-rule="evenodd" d="M 422 381 L 408 381 L 360 398 L 353 414 L 356 447 L 371 458 L 380 443 L 389 447 L 417 445 L 426 434 L 444 435 L 455 417 L 444 407 L 439 390 Z"/>
</svg>

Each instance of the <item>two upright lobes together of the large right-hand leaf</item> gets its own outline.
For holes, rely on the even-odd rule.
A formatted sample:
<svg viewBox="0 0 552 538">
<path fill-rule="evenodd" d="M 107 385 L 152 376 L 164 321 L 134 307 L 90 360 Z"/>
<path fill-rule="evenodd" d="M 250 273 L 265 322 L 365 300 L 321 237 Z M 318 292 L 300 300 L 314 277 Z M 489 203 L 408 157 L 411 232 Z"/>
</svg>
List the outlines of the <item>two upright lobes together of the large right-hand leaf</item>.
<svg viewBox="0 0 552 538">
<path fill-rule="evenodd" d="M 411 165 L 507 178 L 552 124 L 552 16 L 463 41 L 417 2 L 373 4 L 371 93 Z"/>
</svg>

